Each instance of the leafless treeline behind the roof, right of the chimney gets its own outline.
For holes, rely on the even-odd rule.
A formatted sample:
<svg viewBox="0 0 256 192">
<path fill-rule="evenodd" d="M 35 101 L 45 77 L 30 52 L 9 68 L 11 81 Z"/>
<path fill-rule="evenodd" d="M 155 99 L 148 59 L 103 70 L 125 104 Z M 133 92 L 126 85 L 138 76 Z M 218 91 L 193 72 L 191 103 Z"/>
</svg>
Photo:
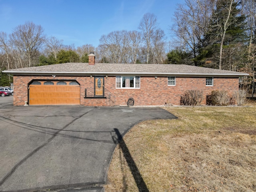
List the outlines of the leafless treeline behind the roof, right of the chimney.
<svg viewBox="0 0 256 192">
<path fill-rule="evenodd" d="M 98 46 L 101 62 L 110 63 L 164 63 L 165 34 L 158 28 L 154 14 L 144 14 L 140 31 L 114 31 L 102 35 Z"/>
</svg>

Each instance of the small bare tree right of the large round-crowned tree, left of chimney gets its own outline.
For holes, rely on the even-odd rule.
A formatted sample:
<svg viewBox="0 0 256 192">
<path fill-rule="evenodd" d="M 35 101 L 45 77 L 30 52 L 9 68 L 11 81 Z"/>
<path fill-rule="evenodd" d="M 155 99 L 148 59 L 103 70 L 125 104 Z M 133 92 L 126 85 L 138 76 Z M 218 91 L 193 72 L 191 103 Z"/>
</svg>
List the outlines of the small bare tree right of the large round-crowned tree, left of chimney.
<svg viewBox="0 0 256 192">
<path fill-rule="evenodd" d="M 57 59 L 57 54 L 61 50 L 63 44 L 63 40 L 59 40 L 56 37 L 49 37 L 46 40 L 46 52 L 49 54 L 53 54 L 54 58 Z"/>
</svg>

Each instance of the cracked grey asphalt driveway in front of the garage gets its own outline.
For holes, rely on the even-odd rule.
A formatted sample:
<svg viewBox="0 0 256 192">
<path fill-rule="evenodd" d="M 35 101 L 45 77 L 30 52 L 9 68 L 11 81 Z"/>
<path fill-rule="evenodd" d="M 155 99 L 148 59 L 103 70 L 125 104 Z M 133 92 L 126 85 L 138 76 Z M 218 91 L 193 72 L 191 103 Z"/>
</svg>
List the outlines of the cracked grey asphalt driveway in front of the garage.
<svg viewBox="0 0 256 192">
<path fill-rule="evenodd" d="M 0 191 L 103 191 L 115 130 L 176 118 L 148 107 L 12 106 L 12 96 L 0 108 Z"/>
</svg>

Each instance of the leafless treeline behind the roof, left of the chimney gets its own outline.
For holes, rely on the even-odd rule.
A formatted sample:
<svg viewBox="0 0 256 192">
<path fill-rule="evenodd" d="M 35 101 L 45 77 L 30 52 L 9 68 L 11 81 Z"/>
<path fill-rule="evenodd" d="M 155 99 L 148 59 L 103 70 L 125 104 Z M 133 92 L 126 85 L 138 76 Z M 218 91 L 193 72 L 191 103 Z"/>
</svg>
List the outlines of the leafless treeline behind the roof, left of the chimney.
<svg viewBox="0 0 256 192">
<path fill-rule="evenodd" d="M 17 26 L 9 35 L 0 32 L 0 70 L 37 66 L 40 56 L 52 56 L 56 63 L 60 50 L 72 50 L 82 57 L 95 49 L 90 44 L 75 48 L 62 42 L 53 36 L 46 37 L 42 26 L 33 22 Z"/>
</svg>

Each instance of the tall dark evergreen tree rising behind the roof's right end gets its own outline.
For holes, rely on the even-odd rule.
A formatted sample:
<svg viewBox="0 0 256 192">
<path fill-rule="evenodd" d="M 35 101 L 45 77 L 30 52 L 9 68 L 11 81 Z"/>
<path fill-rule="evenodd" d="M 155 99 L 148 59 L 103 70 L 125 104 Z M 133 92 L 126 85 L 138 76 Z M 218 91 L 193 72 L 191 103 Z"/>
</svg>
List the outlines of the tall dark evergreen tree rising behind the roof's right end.
<svg viewBox="0 0 256 192">
<path fill-rule="evenodd" d="M 235 0 L 217 0 L 208 32 L 196 60 L 208 60 L 210 67 L 222 69 L 224 58 L 228 57 L 225 55 L 228 53 L 226 50 L 235 47 L 238 42 L 246 41 L 246 17 L 241 15 L 240 3 Z M 227 65 L 225 68 L 227 69 Z"/>
</svg>

